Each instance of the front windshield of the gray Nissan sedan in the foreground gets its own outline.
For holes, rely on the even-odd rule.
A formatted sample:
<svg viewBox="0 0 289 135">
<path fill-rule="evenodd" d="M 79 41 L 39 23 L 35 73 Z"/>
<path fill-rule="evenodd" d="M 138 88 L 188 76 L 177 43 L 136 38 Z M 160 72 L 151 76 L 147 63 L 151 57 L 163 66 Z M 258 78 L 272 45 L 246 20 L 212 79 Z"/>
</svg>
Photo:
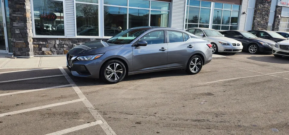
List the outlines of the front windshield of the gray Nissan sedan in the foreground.
<svg viewBox="0 0 289 135">
<path fill-rule="evenodd" d="M 108 39 L 107 42 L 112 44 L 128 44 L 145 31 L 143 29 L 127 29 Z"/>
</svg>

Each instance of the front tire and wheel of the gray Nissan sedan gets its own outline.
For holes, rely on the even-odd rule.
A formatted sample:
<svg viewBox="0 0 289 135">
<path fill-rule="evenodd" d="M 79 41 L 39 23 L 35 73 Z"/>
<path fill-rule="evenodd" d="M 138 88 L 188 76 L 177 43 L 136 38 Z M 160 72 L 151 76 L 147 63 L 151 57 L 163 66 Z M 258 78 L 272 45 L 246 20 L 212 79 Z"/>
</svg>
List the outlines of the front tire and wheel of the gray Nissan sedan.
<svg viewBox="0 0 289 135">
<path fill-rule="evenodd" d="M 107 61 L 102 66 L 100 74 L 104 82 L 111 84 L 118 83 L 126 76 L 126 66 L 119 60 Z"/>
</svg>

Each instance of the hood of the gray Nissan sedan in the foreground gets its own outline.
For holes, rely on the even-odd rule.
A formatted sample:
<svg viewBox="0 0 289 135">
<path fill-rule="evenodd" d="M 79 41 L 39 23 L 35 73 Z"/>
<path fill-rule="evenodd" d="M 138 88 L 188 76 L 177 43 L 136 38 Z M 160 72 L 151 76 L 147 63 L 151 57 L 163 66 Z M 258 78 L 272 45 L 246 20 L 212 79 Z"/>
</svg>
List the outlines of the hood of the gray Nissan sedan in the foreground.
<svg viewBox="0 0 289 135">
<path fill-rule="evenodd" d="M 78 45 L 71 49 L 68 54 L 71 56 L 85 56 L 105 53 L 108 50 L 120 48 L 123 45 L 116 45 L 104 42 L 103 40 L 95 40 Z"/>
</svg>

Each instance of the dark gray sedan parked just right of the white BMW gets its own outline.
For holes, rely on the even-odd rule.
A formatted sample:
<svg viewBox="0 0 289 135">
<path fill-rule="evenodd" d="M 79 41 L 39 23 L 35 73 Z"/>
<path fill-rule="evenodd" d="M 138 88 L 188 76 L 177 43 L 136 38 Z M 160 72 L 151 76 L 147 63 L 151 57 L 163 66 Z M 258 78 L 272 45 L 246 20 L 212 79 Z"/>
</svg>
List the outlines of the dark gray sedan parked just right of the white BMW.
<svg viewBox="0 0 289 135">
<path fill-rule="evenodd" d="M 250 32 L 242 30 L 228 30 L 221 32 L 225 37 L 236 39 L 242 42 L 243 50 L 256 54 L 258 52 L 272 53 L 276 42 L 268 39 L 258 38 Z"/>
</svg>

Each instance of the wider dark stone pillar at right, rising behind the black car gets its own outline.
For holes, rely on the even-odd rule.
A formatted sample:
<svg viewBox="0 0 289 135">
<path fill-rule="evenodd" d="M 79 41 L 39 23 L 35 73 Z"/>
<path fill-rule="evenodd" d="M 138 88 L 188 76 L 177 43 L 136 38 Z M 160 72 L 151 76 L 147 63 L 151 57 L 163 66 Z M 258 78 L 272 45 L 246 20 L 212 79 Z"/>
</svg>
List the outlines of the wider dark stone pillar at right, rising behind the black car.
<svg viewBox="0 0 289 135">
<path fill-rule="evenodd" d="M 256 0 L 252 30 L 267 30 L 271 0 Z"/>
</svg>

